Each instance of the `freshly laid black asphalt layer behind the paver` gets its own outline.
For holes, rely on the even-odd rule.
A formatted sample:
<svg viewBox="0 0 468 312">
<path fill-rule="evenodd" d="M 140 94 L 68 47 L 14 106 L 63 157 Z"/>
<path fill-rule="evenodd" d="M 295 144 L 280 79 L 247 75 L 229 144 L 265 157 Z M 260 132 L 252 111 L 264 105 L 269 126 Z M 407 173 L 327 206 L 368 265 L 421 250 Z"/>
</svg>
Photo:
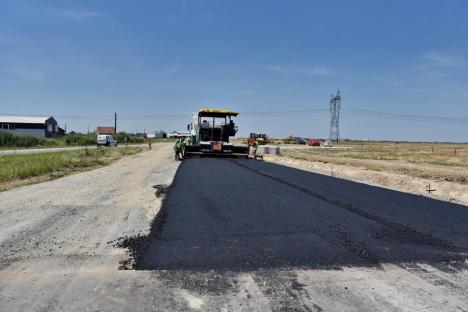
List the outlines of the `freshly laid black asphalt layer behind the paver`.
<svg viewBox="0 0 468 312">
<path fill-rule="evenodd" d="M 121 245 L 140 270 L 456 266 L 467 259 L 468 207 L 261 161 L 193 158 L 149 235 Z"/>
</svg>

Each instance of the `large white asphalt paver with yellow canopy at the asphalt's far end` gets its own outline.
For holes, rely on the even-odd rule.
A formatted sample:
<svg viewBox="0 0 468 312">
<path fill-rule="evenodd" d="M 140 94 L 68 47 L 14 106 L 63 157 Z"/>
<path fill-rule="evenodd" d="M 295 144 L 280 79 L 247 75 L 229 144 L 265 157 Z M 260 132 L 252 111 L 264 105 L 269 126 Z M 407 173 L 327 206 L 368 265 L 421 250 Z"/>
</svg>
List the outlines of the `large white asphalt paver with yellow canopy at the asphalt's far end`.
<svg viewBox="0 0 468 312">
<path fill-rule="evenodd" d="M 191 137 L 185 148 L 185 156 L 233 156 L 247 158 L 249 147 L 234 145 L 230 137 L 238 131 L 232 117 L 239 113 L 225 109 L 201 109 L 192 114 L 192 122 L 187 126 Z"/>
</svg>

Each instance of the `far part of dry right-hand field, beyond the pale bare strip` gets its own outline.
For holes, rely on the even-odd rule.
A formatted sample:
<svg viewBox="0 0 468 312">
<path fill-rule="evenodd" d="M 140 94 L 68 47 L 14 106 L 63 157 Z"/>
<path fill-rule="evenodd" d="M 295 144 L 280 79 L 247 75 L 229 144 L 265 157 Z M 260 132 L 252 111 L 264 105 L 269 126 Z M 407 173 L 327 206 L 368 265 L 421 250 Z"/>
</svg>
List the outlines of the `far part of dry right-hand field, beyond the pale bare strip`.
<svg viewBox="0 0 468 312">
<path fill-rule="evenodd" d="M 468 144 L 449 143 L 394 143 L 394 142 L 340 142 L 334 148 L 283 150 L 289 157 L 299 158 L 353 158 L 404 161 L 414 164 L 468 167 Z"/>
</svg>

